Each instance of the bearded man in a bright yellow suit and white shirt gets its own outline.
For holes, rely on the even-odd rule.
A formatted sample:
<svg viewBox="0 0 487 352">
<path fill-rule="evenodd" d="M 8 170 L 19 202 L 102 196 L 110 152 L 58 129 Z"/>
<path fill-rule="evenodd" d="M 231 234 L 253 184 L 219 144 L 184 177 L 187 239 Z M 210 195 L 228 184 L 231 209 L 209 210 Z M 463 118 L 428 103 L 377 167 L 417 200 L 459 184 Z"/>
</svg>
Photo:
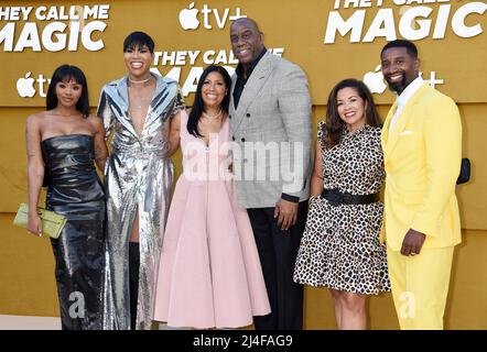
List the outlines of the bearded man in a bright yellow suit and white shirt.
<svg viewBox="0 0 487 352">
<path fill-rule="evenodd" d="M 382 240 L 401 329 L 443 329 L 453 250 L 461 239 L 455 183 L 462 124 L 455 102 L 419 75 L 415 45 L 389 42 L 382 74 L 398 98 L 382 129 Z"/>
</svg>

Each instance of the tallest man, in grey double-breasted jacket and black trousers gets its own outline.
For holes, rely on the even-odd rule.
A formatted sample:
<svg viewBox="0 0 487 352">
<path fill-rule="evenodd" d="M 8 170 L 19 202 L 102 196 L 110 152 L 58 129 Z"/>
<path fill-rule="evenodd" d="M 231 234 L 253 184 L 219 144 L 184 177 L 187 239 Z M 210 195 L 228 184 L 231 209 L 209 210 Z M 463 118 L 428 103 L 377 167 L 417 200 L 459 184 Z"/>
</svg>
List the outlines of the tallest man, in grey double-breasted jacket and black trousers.
<svg viewBox="0 0 487 352">
<path fill-rule="evenodd" d="M 237 198 L 250 217 L 272 309 L 255 317 L 255 326 L 302 329 L 303 287 L 293 271 L 307 212 L 307 80 L 299 66 L 266 50 L 253 20 L 235 21 L 230 41 L 239 61 L 229 111 Z"/>
</svg>

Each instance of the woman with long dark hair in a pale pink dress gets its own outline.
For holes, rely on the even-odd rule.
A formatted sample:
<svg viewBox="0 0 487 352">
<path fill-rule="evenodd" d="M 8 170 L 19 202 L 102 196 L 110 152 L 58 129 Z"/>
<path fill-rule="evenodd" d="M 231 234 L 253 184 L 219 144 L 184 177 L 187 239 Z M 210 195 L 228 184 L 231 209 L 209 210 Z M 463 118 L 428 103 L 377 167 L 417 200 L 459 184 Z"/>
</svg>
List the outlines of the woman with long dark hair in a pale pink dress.
<svg viewBox="0 0 487 352">
<path fill-rule="evenodd" d="M 154 320 L 175 328 L 239 328 L 270 312 L 247 211 L 237 205 L 228 121 L 231 79 L 212 65 L 190 116 L 171 122 L 184 173 L 164 232 Z"/>
</svg>

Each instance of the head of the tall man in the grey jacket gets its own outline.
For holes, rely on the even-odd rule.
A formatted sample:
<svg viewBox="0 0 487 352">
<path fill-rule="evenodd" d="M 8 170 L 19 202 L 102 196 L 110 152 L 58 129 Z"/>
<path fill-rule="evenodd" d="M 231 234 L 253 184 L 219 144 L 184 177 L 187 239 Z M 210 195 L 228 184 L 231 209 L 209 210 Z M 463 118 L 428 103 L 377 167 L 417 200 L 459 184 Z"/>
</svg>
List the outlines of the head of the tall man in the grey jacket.
<svg viewBox="0 0 487 352">
<path fill-rule="evenodd" d="M 230 42 L 231 51 L 244 69 L 255 62 L 263 50 L 263 34 L 257 22 L 249 18 L 241 18 L 231 23 Z"/>
</svg>

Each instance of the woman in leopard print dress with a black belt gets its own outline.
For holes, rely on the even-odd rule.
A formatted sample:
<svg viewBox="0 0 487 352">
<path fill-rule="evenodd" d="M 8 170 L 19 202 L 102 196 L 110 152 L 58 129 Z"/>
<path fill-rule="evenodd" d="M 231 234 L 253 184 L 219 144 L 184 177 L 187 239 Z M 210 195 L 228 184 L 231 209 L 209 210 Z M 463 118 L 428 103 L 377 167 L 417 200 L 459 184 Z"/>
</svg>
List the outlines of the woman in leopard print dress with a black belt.
<svg viewBox="0 0 487 352">
<path fill-rule="evenodd" d="M 374 98 L 364 82 L 343 80 L 318 125 L 310 212 L 294 270 L 296 283 L 329 288 L 338 329 L 365 329 L 367 295 L 390 290 L 379 243 L 383 179 Z"/>
</svg>

